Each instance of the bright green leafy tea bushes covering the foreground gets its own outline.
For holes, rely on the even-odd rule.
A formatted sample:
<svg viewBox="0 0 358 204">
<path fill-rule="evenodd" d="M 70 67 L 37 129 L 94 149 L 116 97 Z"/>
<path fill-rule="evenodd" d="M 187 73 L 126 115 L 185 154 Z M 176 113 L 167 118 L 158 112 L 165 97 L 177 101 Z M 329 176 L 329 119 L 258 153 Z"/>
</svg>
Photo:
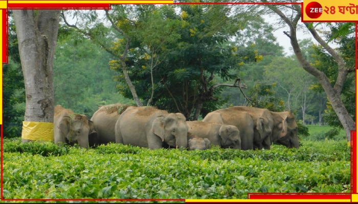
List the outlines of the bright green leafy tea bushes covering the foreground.
<svg viewBox="0 0 358 204">
<path fill-rule="evenodd" d="M 247 198 L 249 192 L 350 192 L 345 141 L 299 149 L 94 149 L 4 140 L 4 198 Z"/>
</svg>

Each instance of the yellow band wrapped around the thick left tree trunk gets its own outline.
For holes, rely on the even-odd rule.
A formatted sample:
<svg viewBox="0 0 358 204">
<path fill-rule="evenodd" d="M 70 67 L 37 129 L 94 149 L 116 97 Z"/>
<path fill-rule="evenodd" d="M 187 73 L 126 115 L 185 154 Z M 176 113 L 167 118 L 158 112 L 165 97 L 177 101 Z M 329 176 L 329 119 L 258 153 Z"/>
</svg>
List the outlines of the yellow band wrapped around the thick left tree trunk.
<svg viewBox="0 0 358 204">
<path fill-rule="evenodd" d="M 23 121 L 21 139 L 54 141 L 54 123 Z"/>
</svg>

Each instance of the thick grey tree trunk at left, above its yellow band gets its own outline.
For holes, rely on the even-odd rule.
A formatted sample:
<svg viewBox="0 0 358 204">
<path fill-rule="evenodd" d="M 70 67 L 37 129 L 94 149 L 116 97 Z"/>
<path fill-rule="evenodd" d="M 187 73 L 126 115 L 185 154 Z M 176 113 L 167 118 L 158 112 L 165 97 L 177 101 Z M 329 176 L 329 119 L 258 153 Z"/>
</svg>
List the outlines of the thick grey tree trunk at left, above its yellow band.
<svg viewBox="0 0 358 204">
<path fill-rule="evenodd" d="M 53 59 L 59 10 L 13 10 L 24 73 L 25 121 L 53 122 Z"/>
</svg>

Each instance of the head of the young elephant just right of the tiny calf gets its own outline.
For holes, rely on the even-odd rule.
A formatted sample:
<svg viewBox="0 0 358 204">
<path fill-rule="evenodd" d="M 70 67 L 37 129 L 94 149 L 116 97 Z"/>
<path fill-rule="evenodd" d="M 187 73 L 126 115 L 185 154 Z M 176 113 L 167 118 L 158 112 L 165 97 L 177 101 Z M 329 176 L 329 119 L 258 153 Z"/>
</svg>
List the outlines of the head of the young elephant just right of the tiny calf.
<svg viewBox="0 0 358 204">
<path fill-rule="evenodd" d="M 240 131 L 234 125 L 221 125 L 219 129 L 221 147 L 241 149 Z"/>
</svg>

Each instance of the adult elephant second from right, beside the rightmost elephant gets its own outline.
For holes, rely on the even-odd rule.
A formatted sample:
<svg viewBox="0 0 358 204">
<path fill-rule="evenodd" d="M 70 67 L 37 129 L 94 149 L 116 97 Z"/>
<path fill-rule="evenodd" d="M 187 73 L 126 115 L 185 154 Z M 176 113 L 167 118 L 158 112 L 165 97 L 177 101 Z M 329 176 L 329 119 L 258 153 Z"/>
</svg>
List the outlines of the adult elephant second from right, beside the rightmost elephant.
<svg viewBox="0 0 358 204">
<path fill-rule="evenodd" d="M 228 109 L 244 111 L 250 114 L 254 121 L 254 149 L 270 149 L 274 121 L 269 110 L 247 106 L 234 106 Z"/>
</svg>

